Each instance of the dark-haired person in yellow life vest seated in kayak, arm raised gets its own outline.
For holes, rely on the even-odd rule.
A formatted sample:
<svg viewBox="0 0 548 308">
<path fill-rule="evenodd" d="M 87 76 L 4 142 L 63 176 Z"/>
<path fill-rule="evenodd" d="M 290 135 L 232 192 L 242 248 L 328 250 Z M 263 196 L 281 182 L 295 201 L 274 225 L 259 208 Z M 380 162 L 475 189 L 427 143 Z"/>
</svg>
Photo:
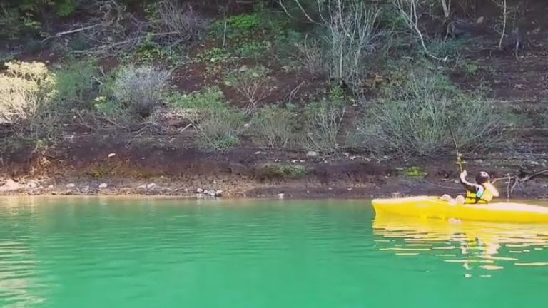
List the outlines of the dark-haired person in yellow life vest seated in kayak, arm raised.
<svg viewBox="0 0 548 308">
<path fill-rule="evenodd" d="M 491 184 L 489 173 L 482 171 L 476 175 L 476 183 L 466 180 L 466 170 L 460 173 L 460 183 L 465 187 L 466 197 L 458 195 L 454 200 L 450 195 L 443 195 L 442 199 L 449 200 L 456 204 L 486 204 L 493 197 L 499 196 L 499 191 Z"/>
</svg>

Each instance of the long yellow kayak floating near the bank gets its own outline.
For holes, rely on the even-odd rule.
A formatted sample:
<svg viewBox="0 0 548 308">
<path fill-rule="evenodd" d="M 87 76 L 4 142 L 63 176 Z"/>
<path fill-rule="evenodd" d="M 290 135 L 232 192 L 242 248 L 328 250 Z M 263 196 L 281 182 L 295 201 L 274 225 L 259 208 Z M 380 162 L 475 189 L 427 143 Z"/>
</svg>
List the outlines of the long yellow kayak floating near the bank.
<svg viewBox="0 0 548 308">
<path fill-rule="evenodd" d="M 522 203 L 452 205 L 440 197 L 405 197 L 372 200 L 377 215 L 477 220 L 486 222 L 548 223 L 548 207 Z"/>
</svg>

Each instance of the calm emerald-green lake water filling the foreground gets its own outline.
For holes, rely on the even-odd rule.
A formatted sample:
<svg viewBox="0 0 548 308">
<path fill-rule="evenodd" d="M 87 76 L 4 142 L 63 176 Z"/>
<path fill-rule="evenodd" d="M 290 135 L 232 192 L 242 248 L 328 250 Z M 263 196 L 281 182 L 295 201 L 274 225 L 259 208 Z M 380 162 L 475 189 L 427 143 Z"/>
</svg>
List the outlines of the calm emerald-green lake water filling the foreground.
<svg viewBox="0 0 548 308">
<path fill-rule="evenodd" d="M 548 226 L 367 201 L 0 199 L 0 307 L 545 307 Z"/>
</svg>

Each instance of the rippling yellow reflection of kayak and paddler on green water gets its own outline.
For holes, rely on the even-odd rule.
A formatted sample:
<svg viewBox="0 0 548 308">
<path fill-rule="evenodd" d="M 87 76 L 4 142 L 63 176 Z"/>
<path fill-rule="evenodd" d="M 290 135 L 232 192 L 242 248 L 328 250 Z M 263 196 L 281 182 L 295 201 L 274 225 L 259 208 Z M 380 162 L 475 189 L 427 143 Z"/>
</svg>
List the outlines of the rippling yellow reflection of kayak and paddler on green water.
<svg viewBox="0 0 548 308">
<path fill-rule="evenodd" d="M 373 233 L 379 251 L 395 255 L 435 255 L 443 262 L 462 263 L 465 270 L 502 270 L 515 266 L 548 266 L 548 225 L 494 224 L 377 215 Z M 539 260 L 534 260 L 535 258 Z M 470 273 L 468 273 L 470 274 Z"/>
</svg>

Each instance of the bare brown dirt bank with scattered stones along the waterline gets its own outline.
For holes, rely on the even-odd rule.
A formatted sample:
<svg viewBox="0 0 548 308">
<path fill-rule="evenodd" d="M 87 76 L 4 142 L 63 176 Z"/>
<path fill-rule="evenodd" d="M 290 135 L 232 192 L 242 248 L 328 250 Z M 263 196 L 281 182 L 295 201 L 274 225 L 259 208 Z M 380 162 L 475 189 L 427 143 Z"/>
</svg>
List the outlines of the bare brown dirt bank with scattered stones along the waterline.
<svg viewBox="0 0 548 308">
<path fill-rule="evenodd" d="M 462 192 L 452 156 L 387 160 L 257 148 L 206 153 L 155 144 L 116 145 L 82 135 L 48 156 L 19 152 L 3 158 L 0 194 L 368 198 Z M 504 196 L 513 188 L 512 197 L 544 198 L 543 174 L 516 185 L 505 177 L 524 179 L 547 165 L 545 155 L 520 154 L 468 158 L 465 167 L 470 174 L 487 170 Z"/>
</svg>

